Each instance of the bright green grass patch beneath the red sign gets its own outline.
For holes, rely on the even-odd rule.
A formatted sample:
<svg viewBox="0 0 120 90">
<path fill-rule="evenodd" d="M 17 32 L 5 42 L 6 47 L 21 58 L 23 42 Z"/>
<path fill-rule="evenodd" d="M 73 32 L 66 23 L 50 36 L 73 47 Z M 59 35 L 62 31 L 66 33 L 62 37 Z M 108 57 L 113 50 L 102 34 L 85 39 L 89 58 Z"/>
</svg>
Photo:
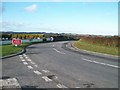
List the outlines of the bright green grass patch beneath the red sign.
<svg viewBox="0 0 120 90">
<path fill-rule="evenodd" d="M 18 53 L 18 52 L 22 51 L 22 48 L 28 44 L 30 44 L 30 43 L 24 43 L 17 47 L 14 45 L 2 45 L 2 46 L 0 46 L 0 57 Z"/>
</svg>

